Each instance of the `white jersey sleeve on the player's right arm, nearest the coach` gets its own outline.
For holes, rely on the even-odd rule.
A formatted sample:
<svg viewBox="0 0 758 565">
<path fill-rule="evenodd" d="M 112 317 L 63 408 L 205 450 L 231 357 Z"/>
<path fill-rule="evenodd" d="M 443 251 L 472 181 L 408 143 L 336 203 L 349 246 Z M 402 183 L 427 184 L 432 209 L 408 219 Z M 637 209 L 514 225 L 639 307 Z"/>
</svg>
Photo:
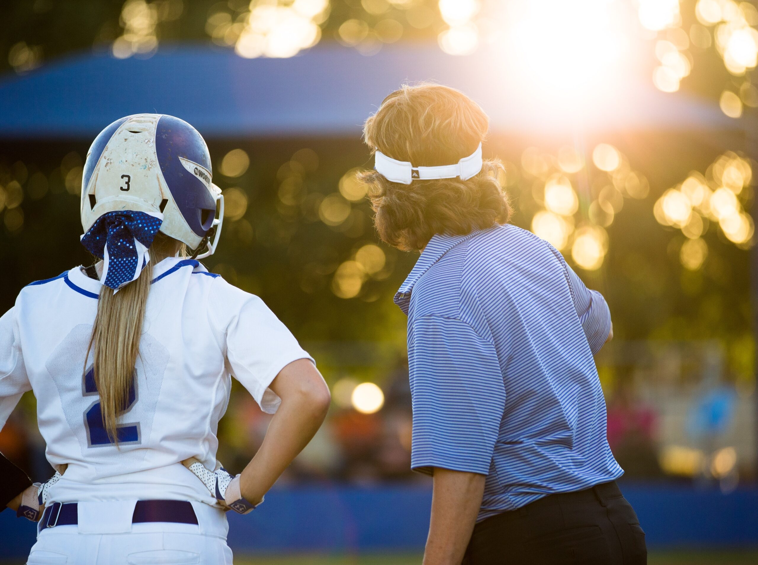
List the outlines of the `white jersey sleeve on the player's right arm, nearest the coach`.
<svg viewBox="0 0 758 565">
<path fill-rule="evenodd" d="M 312 357 L 263 300 L 215 279 L 208 297 L 208 319 L 229 369 L 265 413 L 277 411 L 281 399 L 268 388 L 279 372 L 297 359 Z"/>
</svg>

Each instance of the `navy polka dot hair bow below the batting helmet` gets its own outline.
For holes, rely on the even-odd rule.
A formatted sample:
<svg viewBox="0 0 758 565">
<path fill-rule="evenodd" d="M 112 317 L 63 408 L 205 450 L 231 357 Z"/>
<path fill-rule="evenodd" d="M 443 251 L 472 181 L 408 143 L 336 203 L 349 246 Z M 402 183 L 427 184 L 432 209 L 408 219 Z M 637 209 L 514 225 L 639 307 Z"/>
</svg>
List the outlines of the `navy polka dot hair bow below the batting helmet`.
<svg viewBox="0 0 758 565">
<path fill-rule="evenodd" d="M 96 219 L 82 236 L 82 245 L 103 259 L 101 281 L 105 286 L 118 290 L 139 277 L 162 223 L 162 214 L 132 210 L 108 212 Z"/>
</svg>

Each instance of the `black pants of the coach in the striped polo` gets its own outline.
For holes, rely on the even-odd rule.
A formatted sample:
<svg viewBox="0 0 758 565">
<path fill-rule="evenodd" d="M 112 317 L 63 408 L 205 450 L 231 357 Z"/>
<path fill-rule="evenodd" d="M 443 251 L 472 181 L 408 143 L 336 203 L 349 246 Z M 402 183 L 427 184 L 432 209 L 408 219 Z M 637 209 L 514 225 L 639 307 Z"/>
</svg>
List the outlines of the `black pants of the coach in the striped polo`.
<svg viewBox="0 0 758 565">
<path fill-rule="evenodd" d="M 645 532 L 615 482 L 478 523 L 462 565 L 644 565 Z"/>
</svg>

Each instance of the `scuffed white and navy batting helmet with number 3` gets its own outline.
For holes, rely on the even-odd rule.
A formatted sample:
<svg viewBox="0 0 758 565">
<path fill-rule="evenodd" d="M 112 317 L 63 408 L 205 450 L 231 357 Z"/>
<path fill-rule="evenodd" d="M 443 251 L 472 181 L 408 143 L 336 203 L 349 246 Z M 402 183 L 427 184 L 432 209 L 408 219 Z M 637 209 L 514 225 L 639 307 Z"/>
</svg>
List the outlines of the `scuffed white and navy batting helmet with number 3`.
<svg viewBox="0 0 758 565">
<path fill-rule="evenodd" d="M 212 255 L 224 221 L 224 197 L 212 183 L 208 146 L 186 121 L 136 114 L 102 130 L 82 177 L 84 232 L 107 212 L 160 212 L 160 231 L 202 259 Z"/>
</svg>

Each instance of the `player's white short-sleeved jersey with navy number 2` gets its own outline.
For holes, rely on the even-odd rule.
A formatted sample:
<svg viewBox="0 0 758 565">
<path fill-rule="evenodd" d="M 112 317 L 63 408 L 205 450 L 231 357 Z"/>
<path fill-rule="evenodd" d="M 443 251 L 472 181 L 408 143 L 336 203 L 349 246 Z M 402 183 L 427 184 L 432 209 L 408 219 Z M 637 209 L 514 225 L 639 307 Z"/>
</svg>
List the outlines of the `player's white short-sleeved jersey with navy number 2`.
<svg viewBox="0 0 758 565">
<path fill-rule="evenodd" d="M 215 504 L 180 462 L 196 457 L 215 468 L 230 375 L 274 413 L 280 399 L 268 385 L 288 363 L 310 359 L 261 299 L 198 261 L 164 259 L 153 277 L 118 447 L 102 425 L 92 353 L 84 370 L 100 282 L 77 267 L 32 283 L 0 319 L 0 428 L 34 391 L 47 459 L 68 465 L 49 501 Z"/>
</svg>

